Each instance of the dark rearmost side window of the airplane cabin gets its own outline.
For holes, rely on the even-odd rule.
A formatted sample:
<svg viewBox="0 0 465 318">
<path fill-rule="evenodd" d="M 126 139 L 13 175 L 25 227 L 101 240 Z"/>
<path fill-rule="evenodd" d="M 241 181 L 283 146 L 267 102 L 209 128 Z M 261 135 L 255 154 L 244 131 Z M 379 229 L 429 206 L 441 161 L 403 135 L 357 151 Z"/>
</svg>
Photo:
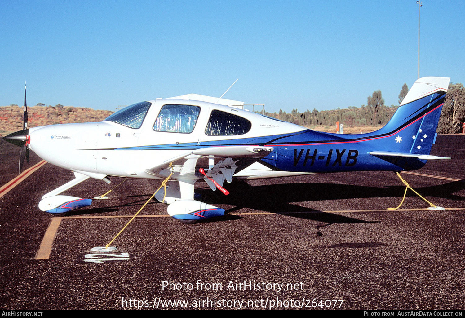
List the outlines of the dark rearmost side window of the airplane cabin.
<svg viewBox="0 0 465 318">
<path fill-rule="evenodd" d="M 205 134 L 208 136 L 233 136 L 248 133 L 252 123 L 240 116 L 214 109 L 208 119 Z"/>
</svg>

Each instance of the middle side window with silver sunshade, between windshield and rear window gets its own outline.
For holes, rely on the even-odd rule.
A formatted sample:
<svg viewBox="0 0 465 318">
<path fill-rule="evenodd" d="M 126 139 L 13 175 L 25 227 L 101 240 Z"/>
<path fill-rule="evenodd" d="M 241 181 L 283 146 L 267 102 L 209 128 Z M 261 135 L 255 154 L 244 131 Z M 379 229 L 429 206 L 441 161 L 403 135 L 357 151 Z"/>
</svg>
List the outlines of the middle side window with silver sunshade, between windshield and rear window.
<svg viewBox="0 0 465 318">
<path fill-rule="evenodd" d="M 166 133 L 192 133 L 199 113 L 199 106 L 163 105 L 153 130 Z"/>
</svg>

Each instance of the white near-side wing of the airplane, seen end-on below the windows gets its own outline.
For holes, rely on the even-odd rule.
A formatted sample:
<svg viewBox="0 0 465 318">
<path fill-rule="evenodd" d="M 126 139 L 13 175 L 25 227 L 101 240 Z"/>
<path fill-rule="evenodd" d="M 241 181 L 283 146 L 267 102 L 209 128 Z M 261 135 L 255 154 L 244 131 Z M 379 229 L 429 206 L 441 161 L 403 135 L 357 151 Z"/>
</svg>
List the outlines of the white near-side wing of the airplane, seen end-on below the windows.
<svg viewBox="0 0 465 318">
<path fill-rule="evenodd" d="M 265 146 L 216 146 L 199 148 L 173 157 L 150 169 L 146 169 L 146 172 L 166 178 L 166 176 L 171 173 L 171 171 L 169 171 L 169 165 L 171 163 L 172 170 L 175 172 L 173 178 L 178 179 L 181 177 L 186 179 L 189 177 L 192 178 L 195 174 L 199 173 L 199 169 L 197 169 L 198 166 L 209 166 L 210 168 L 214 166 L 213 169 L 209 169 L 210 171 L 207 172 L 207 175 L 211 176 L 212 172 L 214 174 L 217 170 L 222 171 L 222 173 L 226 175 L 226 180 L 230 182 L 230 177 L 233 175 L 235 168 L 237 168 L 237 166 L 235 166 L 236 162 L 244 160 L 247 161 L 247 165 L 250 165 L 259 159 L 265 158 L 272 151 L 273 147 Z M 225 169 L 232 169 L 232 171 L 227 173 Z"/>
</svg>

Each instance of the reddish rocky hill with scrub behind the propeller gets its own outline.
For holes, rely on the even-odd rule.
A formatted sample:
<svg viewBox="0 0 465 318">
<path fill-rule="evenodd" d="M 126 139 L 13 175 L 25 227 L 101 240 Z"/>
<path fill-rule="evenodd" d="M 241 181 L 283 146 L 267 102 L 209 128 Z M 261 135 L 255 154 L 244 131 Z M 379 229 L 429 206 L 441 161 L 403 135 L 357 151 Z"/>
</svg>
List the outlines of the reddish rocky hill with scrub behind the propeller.
<svg viewBox="0 0 465 318">
<path fill-rule="evenodd" d="M 102 121 L 112 111 L 94 110 L 73 106 L 32 106 L 27 107 L 28 126 L 37 127 L 53 124 L 86 123 Z M 23 106 L 0 106 L 0 133 L 21 130 Z"/>
</svg>

